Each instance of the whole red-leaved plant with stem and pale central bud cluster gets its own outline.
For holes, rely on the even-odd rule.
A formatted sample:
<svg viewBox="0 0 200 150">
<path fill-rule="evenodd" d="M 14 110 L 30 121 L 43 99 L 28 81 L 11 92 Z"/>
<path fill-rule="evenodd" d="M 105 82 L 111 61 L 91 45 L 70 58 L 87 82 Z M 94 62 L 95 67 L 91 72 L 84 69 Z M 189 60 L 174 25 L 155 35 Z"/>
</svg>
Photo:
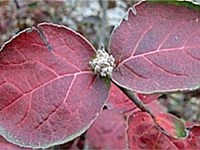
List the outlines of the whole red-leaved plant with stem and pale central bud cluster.
<svg viewBox="0 0 200 150">
<path fill-rule="evenodd" d="M 107 50 L 41 23 L 1 48 L 0 135 L 34 149 L 85 131 L 91 149 L 198 149 L 199 124 L 185 125 L 155 100 L 199 86 L 200 11 L 192 3 L 134 5 Z"/>
</svg>

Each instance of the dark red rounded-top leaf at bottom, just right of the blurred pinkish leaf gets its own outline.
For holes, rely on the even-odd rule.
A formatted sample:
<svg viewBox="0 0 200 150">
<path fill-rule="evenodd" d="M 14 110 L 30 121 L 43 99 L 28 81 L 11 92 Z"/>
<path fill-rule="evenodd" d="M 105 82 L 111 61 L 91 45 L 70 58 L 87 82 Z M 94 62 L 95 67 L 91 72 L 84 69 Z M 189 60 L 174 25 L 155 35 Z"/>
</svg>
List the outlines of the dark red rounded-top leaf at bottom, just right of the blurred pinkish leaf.
<svg viewBox="0 0 200 150">
<path fill-rule="evenodd" d="M 128 141 L 131 149 L 177 149 L 159 132 L 147 113 L 135 113 L 129 118 Z"/>
</svg>

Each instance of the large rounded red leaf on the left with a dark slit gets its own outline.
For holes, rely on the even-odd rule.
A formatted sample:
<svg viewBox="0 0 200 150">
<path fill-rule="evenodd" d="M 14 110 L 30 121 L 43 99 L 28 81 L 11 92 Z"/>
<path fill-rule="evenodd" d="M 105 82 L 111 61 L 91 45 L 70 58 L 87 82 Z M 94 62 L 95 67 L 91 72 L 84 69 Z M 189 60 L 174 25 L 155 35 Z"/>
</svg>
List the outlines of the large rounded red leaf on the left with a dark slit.
<svg viewBox="0 0 200 150">
<path fill-rule="evenodd" d="M 0 52 L 0 134 L 32 148 L 65 143 L 89 128 L 108 86 L 88 62 L 94 48 L 78 33 L 40 24 Z M 52 50 L 47 49 L 47 45 Z"/>
</svg>

